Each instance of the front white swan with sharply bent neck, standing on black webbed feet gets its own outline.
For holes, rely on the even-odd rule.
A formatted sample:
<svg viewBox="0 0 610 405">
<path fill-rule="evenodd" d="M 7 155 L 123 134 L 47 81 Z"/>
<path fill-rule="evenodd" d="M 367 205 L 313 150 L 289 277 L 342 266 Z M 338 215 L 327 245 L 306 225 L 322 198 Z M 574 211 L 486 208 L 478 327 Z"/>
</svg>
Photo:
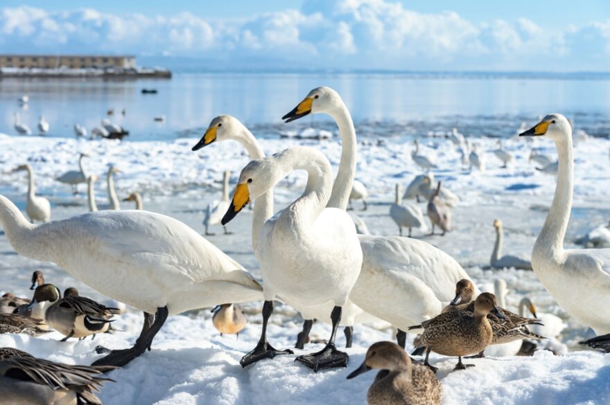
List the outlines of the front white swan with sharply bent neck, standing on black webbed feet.
<svg viewBox="0 0 610 405">
<path fill-rule="evenodd" d="M 309 368 L 346 366 L 347 353 L 336 350 L 334 341 L 349 292 L 354 287 L 362 250 L 354 222 L 344 210 L 325 208 L 333 186 L 328 159 L 311 147 L 293 147 L 273 156 L 254 160 L 241 171 L 234 197 L 223 224 L 229 222 L 252 199 L 273 188 L 293 170 L 306 170 L 308 181 L 299 199 L 268 219 L 259 239 L 259 262 L 265 280 L 263 332 L 242 366 L 273 357 L 278 352 L 266 341 L 266 327 L 273 300 L 280 298 L 297 307 L 333 303 L 333 332 L 320 352 L 297 357 Z"/>
</svg>

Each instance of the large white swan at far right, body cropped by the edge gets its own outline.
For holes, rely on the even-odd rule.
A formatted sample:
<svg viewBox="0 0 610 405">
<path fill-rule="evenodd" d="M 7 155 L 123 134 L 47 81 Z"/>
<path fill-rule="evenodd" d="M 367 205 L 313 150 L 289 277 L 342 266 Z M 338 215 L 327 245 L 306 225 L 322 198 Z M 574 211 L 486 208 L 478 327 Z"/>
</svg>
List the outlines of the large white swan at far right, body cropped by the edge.
<svg viewBox="0 0 610 405">
<path fill-rule="evenodd" d="M 555 197 L 532 251 L 534 273 L 570 316 L 597 334 L 610 333 L 610 249 L 564 249 L 574 182 L 572 128 L 561 114 L 550 114 L 521 135 L 552 139 L 559 156 Z"/>
</svg>

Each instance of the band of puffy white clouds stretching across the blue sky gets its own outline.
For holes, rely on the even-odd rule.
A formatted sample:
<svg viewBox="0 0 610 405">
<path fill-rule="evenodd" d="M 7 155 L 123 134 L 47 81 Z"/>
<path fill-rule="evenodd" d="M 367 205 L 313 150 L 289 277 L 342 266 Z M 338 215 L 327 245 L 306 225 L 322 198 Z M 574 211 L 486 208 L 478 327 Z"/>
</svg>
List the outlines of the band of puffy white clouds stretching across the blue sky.
<svg viewBox="0 0 610 405">
<path fill-rule="evenodd" d="M 394 0 L 308 0 L 301 10 L 224 21 L 23 6 L 0 9 L 0 33 L 3 51 L 14 53 L 221 55 L 350 69 L 606 69 L 610 61 L 610 21 L 559 30 L 525 18 L 474 24 Z"/>
</svg>

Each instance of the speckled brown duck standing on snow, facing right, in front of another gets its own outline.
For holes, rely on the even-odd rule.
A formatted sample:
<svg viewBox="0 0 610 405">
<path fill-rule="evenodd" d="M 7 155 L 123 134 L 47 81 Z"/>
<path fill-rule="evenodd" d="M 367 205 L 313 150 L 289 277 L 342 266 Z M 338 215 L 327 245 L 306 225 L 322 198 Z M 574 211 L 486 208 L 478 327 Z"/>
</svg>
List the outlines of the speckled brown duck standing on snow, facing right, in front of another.
<svg viewBox="0 0 610 405">
<path fill-rule="evenodd" d="M 491 293 L 480 294 L 473 303 L 473 309 L 473 312 L 466 309 L 445 312 L 422 322 L 421 325 L 409 327 L 409 329 L 424 329 L 418 348 L 426 347 L 424 360 L 426 366 L 433 371 L 437 370 L 428 363 L 430 351 L 444 356 L 457 356 L 458 364 L 454 370 L 464 370 L 474 366 L 464 365 L 462 356 L 480 353 L 494 340 L 494 330 L 487 315 L 491 313 L 500 319 L 506 316 L 498 309 L 496 296 Z"/>
</svg>

